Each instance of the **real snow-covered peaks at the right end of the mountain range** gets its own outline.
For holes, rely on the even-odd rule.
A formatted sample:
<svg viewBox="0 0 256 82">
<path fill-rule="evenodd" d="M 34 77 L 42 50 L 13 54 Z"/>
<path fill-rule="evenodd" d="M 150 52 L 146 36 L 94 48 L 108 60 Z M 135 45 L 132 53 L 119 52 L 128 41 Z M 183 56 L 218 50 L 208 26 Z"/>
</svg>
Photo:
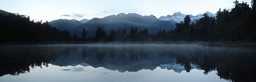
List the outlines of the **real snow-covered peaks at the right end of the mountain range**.
<svg viewBox="0 0 256 82">
<path fill-rule="evenodd" d="M 208 11 L 206 13 L 207 13 L 207 16 L 210 16 L 210 17 L 215 17 L 216 16 L 216 14 L 213 14 L 213 13 L 208 12 Z M 193 16 L 191 14 L 182 14 L 181 12 L 175 12 L 173 15 L 161 16 L 159 18 L 159 20 L 171 21 L 175 24 L 175 23 L 180 23 L 180 21 L 184 21 L 184 18 L 187 15 L 190 16 L 191 23 L 196 22 L 197 19 L 200 19 L 200 18 L 204 17 L 203 14 L 198 14 L 196 16 Z"/>
</svg>

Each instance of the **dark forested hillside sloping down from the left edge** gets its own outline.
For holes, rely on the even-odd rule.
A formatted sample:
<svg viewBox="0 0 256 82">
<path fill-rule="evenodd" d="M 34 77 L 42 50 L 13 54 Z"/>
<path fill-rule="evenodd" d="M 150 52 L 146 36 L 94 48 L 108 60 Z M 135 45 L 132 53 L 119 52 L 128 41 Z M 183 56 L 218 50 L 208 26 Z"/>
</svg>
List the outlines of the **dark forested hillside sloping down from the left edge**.
<svg viewBox="0 0 256 82">
<path fill-rule="evenodd" d="M 69 31 L 59 31 L 46 21 L 30 21 L 29 16 L 0 12 L 0 42 L 42 42 L 42 41 L 72 41 Z"/>
</svg>

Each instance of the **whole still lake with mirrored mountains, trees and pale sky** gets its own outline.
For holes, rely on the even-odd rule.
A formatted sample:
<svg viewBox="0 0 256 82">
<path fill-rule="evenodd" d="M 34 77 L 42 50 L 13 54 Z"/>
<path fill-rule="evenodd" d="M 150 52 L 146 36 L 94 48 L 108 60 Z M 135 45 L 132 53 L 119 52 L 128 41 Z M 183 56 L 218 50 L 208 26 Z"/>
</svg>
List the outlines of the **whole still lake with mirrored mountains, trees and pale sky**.
<svg viewBox="0 0 256 82">
<path fill-rule="evenodd" d="M 255 82 L 255 48 L 0 46 L 0 82 Z"/>
</svg>

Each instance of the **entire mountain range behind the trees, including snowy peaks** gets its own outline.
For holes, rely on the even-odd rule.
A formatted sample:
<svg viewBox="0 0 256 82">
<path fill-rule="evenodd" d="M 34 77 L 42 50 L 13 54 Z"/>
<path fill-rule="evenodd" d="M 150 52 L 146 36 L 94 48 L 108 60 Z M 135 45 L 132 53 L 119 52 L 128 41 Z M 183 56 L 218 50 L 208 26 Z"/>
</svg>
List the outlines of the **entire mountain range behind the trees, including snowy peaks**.
<svg viewBox="0 0 256 82">
<path fill-rule="evenodd" d="M 211 12 L 206 13 L 210 17 L 216 16 Z M 175 29 L 175 24 L 183 21 L 186 15 L 190 16 L 191 23 L 203 17 L 203 14 L 193 16 L 191 14 L 182 14 L 181 12 L 175 12 L 173 15 L 161 16 L 160 18 L 156 18 L 153 15 L 141 16 L 136 13 L 119 13 L 105 18 L 93 18 L 92 20 L 59 19 L 50 21 L 49 24 L 59 30 L 68 30 L 70 34 L 78 34 L 78 36 L 81 36 L 83 28 L 87 30 L 87 36 L 94 36 L 97 27 L 103 28 L 107 35 L 110 34 L 111 29 L 126 29 L 129 34 L 131 27 L 138 27 L 139 30 L 148 29 L 149 34 L 156 34 L 159 30 Z"/>
</svg>

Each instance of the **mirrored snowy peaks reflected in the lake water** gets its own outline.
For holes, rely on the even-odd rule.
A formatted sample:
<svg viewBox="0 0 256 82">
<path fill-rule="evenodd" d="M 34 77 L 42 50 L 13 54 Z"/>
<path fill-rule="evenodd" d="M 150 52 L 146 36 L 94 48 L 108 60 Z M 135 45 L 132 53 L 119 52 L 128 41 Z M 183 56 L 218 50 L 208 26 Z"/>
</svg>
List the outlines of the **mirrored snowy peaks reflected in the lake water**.
<svg viewBox="0 0 256 82">
<path fill-rule="evenodd" d="M 199 68 L 196 64 L 190 63 L 190 66 L 191 66 L 191 70 L 192 69 L 201 70 L 201 68 Z M 176 64 L 176 63 L 161 64 L 159 67 L 161 69 L 173 70 L 176 73 L 181 73 L 182 71 L 186 71 L 184 66 L 182 66 L 181 64 Z"/>
</svg>

